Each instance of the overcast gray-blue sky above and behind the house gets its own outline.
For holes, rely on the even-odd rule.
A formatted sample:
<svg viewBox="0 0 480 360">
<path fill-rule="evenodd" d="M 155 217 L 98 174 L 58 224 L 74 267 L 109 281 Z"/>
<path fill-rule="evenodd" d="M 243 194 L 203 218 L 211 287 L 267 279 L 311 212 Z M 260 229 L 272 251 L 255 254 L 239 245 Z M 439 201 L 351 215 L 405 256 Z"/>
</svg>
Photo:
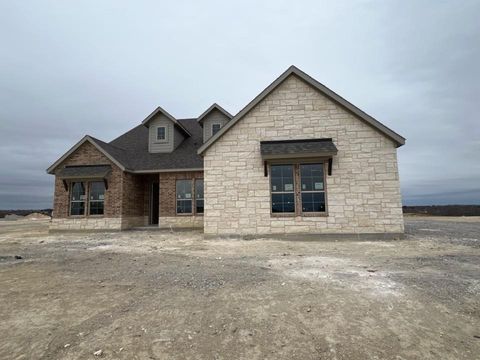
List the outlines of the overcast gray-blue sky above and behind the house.
<svg viewBox="0 0 480 360">
<path fill-rule="evenodd" d="M 296 65 L 407 138 L 404 204 L 480 204 L 480 1 L 1 1 L 0 209 L 160 105 L 243 108 Z"/>
</svg>

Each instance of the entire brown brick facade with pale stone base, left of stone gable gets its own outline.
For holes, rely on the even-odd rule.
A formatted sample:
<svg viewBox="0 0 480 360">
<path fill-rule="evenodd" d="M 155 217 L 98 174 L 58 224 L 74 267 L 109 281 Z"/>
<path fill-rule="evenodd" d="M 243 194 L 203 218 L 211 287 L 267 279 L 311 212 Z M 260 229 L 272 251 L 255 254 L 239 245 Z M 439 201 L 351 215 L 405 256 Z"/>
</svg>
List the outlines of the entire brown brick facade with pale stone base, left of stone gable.
<svg viewBox="0 0 480 360">
<path fill-rule="evenodd" d="M 160 183 L 160 226 L 201 227 L 203 216 L 176 215 L 176 180 L 203 179 L 203 172 L 178 172 L 138 175 L 122 172 L 92 144 L 85 142 L 63 163 L 66 165 L 110 164 L 112 172 L 107 177 L 105 191 L 105 214 L 103 217 L 69 217 L 69 191 L 63 182 L 55 178 L 54 212 L 55 230 L 83 229 L 126 229 L 148 224 L 150 212 L 150 189 L 153 182 Z M 113 220 L 117 219 L 117 220 Z"/>
</svg>

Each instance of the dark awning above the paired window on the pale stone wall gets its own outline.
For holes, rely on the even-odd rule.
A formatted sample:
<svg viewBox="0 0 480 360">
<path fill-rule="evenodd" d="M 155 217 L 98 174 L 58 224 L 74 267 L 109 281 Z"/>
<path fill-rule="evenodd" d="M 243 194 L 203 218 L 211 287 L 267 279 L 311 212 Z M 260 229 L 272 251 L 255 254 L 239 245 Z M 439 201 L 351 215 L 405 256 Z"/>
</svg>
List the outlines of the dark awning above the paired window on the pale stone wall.
<svg viewBox="0 0 480 360">
<path fill-rule="evenodd" d="M 337 147 L 332 139 L 305 139 L 261 141 L 260 151 L 264 160 L 332 157 Z"/>
</svg>

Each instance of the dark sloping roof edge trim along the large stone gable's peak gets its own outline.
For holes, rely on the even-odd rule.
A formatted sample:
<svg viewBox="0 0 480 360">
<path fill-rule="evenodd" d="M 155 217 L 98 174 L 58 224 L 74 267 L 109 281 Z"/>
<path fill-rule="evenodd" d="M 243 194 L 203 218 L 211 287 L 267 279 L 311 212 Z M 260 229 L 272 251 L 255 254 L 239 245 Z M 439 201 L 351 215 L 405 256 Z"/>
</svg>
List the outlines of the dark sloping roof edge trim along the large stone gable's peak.
<svg viewBox="0 0 480 360">
<path fill-rule="evenodd" d="M 298 69 L 295 66 L 290 66 L 282 75 L 280 75 L 274 82 L 272 82 L 265 90 L 258 94 L 250 103 L 248 103 L 240 112 L 235 115 L 223 128 L 220 129 L 214 136 L 212 136 L 205 144 L 203 144 L 199 149 L 198 153 L 202 154 L 207 150 L 212 144 L 214 144 L 219 138 L 223 136 L 231 127 L 233 127 L 238 121 L 240 121 L 247 113 L 250 112 L 258 103 L 265 99 L 272 91 L 274 91 L 281 83 L 283 83 L 290 75 L 296 75 L 301 80 L 305 81 L 307 84 L 318 90 L 323 95 L 327 96 L 330 100 L 340 104 L 349 112 L 356 115 L 362 121 L 377 129 L 380 133 L 390 138 L 395 142 L 397 147 L 405 144 L 405 138 L 397 134 L 390 128 L 386 127 L 378 120 L 374 119 L 364 111 L 360 110 L 358 107 L 352 103 L 345 100 L 343 97 L 335 93 L 334 91 L 327 88 L 325 85 L 321 84 L 310 75 L 304 73 L 302 70 Z"/>
</svg>

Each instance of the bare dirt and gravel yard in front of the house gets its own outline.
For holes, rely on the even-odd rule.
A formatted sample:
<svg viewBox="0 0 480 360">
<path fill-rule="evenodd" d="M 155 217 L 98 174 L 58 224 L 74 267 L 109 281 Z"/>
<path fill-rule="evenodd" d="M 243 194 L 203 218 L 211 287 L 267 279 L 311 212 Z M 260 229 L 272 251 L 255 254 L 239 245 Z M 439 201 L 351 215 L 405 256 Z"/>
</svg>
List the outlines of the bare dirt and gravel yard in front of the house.
<svg viewBox="0 0 480 360">
<path fill-rule="evenodd" d="M 0 222 L 1 359 L 480 359 L 478 218 L 397 241 L 47 225 Z"/>
</svg>

